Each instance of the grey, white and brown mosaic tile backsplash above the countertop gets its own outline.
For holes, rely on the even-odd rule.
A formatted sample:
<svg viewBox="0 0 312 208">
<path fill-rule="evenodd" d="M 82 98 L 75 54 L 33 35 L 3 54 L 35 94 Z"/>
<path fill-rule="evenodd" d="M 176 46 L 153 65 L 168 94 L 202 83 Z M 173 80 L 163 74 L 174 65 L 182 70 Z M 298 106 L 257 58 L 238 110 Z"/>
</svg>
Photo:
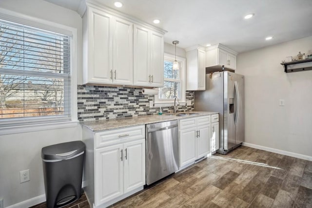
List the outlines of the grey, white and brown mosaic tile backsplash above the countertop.
<svg viewBox="0 0 312 208">
<path fill-rule="evenodd" d="M 143 95 L 142 88 L 78 85 L 78 120 L 93 121 L 109 118 L 152 115 L 159 107 L 149 107 L 155 103 L 154 95 Z M 194 91 L 186 91 L 190 106 L 179 106 L 179 112 L 194 111 Z M 173 106 L 162 107 L 163 113 L 173 113 Z"/>
</svg>

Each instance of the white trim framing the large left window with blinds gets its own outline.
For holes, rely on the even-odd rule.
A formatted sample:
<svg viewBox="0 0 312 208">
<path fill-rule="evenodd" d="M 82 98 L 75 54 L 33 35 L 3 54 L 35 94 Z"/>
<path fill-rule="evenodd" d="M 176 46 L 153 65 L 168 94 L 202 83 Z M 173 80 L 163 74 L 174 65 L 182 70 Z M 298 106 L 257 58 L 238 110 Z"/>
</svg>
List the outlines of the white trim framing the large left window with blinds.
<svg viewBox="0 0 312 208">
<path fill-rule="evenodd" d="M 59 129 L 61 125 L 66 123 L 66 127 L 76 126 L 78 123 L 77 115 L 77 68 L 78 68 L 78 58 L 77 58 L 77 47 L 78 47 L 78 37 L 77 29 L 69 26 L 65 26 L 59 23 L 47 21 L 44 19 L 34 18 L 28 15 L 20 14 L 10 10 L 0 8 L 0 19 L 16 22 L 19 24 L 25 24 L 42 30 L 47 30 L 55 33 L 60 33 L 68 35 L 71 37 L 71 75 L 70 75 L 70 121 L 64 122 L 62 118 L 60 121 L 51 120 L 50 122 L 34 122 L 31 125 L 24 125 L 23 123 L 12 123 L 12 126 L 1 126 L 0 125 L 0 135 L 20 133 L 20 132 L 35 132 L 46 129 Z M 72 124 L 70 124 L 72 123 Z"/>
</svg>

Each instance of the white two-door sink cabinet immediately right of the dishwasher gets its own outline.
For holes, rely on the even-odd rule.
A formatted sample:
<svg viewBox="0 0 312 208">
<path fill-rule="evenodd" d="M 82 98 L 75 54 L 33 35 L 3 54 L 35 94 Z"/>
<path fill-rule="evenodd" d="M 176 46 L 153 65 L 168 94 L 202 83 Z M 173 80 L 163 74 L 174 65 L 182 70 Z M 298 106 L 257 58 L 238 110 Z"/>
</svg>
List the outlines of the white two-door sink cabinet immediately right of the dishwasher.
<svg viewBox="0 0 312 208">
<path fill-rule="evenodd" d="M 210 152 L 210 115 L 179 120 L 180 167 Z"/>
</svg>

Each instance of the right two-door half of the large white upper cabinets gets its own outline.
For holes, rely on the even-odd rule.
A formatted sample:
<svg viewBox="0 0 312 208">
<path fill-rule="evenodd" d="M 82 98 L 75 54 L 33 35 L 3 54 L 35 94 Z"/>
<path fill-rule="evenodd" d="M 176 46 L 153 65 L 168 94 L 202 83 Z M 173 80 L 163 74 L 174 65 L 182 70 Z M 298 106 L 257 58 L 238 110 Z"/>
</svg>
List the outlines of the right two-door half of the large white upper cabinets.
<svg viewBox="0 0 312 208">
<path fill-rule="evenodd" d="M 134 25 L 133 52 L 134 85 L 163 87 L 163 35 Z"/>
</svg>

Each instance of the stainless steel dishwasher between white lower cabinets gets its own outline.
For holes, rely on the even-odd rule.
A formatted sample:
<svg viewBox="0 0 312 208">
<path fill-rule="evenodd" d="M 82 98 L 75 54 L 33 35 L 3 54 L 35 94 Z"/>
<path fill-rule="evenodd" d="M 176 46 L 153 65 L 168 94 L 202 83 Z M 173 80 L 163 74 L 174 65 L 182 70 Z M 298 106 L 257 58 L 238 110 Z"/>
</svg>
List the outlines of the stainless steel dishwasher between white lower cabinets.
<svg viewBox="0 0 312 208">
<path fill-rule="evenodd" d="M 176 172 L 178 164 L 178 121 L 146 125 L 146 184 Z"/>
</svg>

